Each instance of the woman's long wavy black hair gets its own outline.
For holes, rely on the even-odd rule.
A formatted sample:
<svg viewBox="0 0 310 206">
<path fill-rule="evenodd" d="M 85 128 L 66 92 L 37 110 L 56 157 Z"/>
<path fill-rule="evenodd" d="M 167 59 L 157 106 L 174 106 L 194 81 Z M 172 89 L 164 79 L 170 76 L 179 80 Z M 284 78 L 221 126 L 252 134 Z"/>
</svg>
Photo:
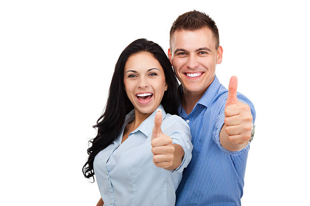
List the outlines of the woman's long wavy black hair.
<svg viewBox="0 0 310 206">
<path fill-rule="evenodd" d="M 87 149 L 89 157 L 83 166 L 83 174 L 86 178 L 94 178 L 93 163 L 95 156 L 117 138 L 124 125 L 126 114 L 134 109 L 124 89 L 124 68 L 128 58 L 140 52 L 152 54 L 163 67 L 168 90 L 165 91 L 161 104 L 166 113 L 178 114 L 179 85 L 163 48 L 144 38 L 133 41 L 123 50 L 115 65 L 105 111 L 97 120 L 97 124 L 93 126 L 98 128 L 98 133 L 93 140 L 89 141 L 91 144 Z"/>
</svg>

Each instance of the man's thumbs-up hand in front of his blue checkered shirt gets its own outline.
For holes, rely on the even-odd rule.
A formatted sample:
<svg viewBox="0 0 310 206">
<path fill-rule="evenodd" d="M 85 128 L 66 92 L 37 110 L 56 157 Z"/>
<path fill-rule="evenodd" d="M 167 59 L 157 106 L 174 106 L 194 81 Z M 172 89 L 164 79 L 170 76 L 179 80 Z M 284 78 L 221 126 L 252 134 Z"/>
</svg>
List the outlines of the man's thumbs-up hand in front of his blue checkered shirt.
<svg viewBox="0 0 310 206">
<path fill-rule="evenodd" d="M 251 109 L 247 104 L 238 100 L 237 85 L 237 77 L 232 76 L 228 86 L 228 97 L 225 105 L 225 119 L 222 127 L 226 133 L 225 136 L 228 138 L 228 142 L 232 144 L 232 147 L 230 148 L 233 149 L 228 150 L 240 150 L 244 148 L 251 137 Z M 242 147 L 238 148 L 236 145 L 241 145 Z"/>
</svg>

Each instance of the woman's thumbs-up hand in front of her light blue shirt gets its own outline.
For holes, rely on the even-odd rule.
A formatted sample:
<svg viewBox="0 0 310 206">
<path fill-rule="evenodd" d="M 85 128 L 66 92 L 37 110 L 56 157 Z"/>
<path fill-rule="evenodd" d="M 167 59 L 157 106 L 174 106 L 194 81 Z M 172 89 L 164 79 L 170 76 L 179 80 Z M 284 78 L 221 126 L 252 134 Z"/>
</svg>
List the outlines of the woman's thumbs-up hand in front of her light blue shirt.
<svg viewBox="0 0 310 206">
<path fill-rule="evenodd" d="M 170 136 L 162 132 L 162 110 L 158 110 L 154 119 L 154 127 L 151 136 L 153 163 L 157 167 L 169 169 L 173 166 L 175 147 Z"/>
</svg>

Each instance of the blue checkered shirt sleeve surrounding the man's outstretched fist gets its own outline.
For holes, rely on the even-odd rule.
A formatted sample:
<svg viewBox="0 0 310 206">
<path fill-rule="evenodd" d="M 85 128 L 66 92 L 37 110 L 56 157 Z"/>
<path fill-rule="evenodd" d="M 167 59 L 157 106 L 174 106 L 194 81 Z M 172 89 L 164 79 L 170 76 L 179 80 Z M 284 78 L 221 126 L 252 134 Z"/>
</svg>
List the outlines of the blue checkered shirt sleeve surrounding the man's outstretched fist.
<svg viewBox="0 0 310 206">
<path fill-rule="evenodd" d="M 220 131 L 221 131 L 223 125 L 224 125 L 224 119 L 225 119 L 224 111 L 225 111 L 225 103 L 226 103 L 226 99 L 227 99 L 227 94 L 228 94 L 228 92 L 225 93 L 225 97 L 222 100 L 222 107 L 220 107 L 219 115 L 217 116 L 217 118 L 215 120 L 212 138 L 215 141 L 215 143 L 219 146 L 221 151 L 225 152 L 227 155 L 239 155 L 243 151 L 245 151 L 245 150 L 248 151 L 249 150 L 250 143 L 248 143 L 248 145 L 245 148 L 243 148 L 243 149 L 241 149 L 239 151 L 229 151 L 229 150 L 225 149 L 221 145 L 220 140 L 219 140 L 219 134 L 220 134 Z M 256 117 L 254 105 L 252 104 L 252 102 L 247 97 L 245 97 L 243 94 L 241 94 L 239 92 L 237 92 L 237 97 L 238 97 L 239 101 L 242 101 L 245 104 L 250 106 L 251 114 L 252 114 L 252 117 L 253 117 L 253 123 L 254 123 L 255 122 L 255 117 Z"/>
</svg>

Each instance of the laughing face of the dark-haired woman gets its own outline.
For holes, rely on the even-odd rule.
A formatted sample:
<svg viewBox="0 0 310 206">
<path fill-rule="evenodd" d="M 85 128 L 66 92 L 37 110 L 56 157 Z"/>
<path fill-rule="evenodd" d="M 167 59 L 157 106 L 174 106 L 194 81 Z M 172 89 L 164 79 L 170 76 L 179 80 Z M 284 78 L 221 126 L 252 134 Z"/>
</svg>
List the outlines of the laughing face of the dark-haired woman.
<svg viewBox="0 0 310 206">
<path fill-rule="evenodd" d="M 124 84 L 136 112 L 142 114 L 156 110 L 168 88 L 161 64 L 147 52 L 128 58 L 124 69 Z"/>
</svg>

